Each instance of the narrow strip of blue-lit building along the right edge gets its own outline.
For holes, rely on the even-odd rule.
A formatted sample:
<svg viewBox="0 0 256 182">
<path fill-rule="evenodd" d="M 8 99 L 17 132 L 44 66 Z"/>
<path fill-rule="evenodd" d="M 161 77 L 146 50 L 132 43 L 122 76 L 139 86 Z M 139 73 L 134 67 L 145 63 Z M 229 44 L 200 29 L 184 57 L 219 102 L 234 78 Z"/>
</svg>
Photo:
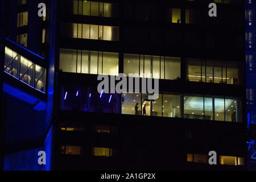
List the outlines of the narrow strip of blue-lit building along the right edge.
<svg viewBox="0 0 256 182">
<path fill-rule="evenodd" d="M 247 86 L 247 144 L 248 168 L 256 169 L 256 107 L 255 107 L 255 1 L 246 1 L 246 86 Z"/>
</svg>

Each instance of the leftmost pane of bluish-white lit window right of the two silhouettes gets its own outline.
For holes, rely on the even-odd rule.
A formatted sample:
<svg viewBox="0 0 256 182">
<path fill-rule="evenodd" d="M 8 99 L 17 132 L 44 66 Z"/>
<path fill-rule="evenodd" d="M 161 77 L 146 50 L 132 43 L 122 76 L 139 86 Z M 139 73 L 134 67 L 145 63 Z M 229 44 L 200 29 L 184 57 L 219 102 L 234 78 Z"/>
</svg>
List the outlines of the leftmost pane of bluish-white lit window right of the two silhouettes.
<svg viewBox="0 0 256 182">
<path fill-rule="evenodd" d="M 184 96 L 184 118 L 204 119 L 204 98 Z"/>
</svg>

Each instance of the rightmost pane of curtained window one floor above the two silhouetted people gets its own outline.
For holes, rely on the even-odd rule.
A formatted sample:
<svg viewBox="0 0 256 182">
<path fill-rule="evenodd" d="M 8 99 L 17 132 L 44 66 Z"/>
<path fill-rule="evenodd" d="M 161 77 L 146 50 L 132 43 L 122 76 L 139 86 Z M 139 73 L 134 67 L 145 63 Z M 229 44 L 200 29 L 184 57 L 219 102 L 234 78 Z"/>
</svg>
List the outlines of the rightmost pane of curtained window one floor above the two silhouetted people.
<svg viewBox="0 0 256 182">
<path fill-rule="evenodd" d="M 165 57 L 165 79 L 175 80 L 180 78 L 180 58 Z"/>
</svg>

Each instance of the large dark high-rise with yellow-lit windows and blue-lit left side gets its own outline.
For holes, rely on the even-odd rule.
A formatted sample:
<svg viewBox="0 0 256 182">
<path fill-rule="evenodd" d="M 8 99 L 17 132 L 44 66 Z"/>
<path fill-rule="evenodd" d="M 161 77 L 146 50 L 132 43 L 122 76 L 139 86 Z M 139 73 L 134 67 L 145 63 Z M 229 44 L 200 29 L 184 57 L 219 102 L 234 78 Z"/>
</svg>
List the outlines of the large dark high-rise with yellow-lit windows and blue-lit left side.
<svg viewBox="0 0 256 182">
<path fill-rule="evenodd" d="M 4 6 L 5 170 L 247 168 L 244 1 L 41 2 Z"/>
</svg>

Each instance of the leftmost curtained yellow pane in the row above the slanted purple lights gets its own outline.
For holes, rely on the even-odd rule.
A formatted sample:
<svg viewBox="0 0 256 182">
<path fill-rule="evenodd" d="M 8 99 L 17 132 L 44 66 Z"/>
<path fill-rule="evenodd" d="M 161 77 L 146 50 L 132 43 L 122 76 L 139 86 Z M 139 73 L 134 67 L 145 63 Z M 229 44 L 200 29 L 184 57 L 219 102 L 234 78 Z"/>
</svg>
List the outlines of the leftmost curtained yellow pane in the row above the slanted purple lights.
<svg viewBox="0 0 256 182">
<path fill-rule="evenodd" d="M 77 51 L 73 49 L 60 49 L 60 69 L 63 72 L 76 73 Z"/>
</svg>

